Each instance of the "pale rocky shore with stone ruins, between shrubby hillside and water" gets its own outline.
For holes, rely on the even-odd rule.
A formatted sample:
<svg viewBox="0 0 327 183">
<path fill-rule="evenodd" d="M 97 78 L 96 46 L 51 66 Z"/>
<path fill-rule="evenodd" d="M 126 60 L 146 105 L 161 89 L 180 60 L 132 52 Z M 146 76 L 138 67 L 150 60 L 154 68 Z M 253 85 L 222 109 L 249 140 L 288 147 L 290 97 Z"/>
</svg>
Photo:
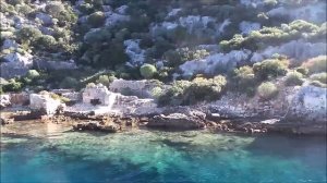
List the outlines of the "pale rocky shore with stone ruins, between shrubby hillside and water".
<svg viewBox="0 0 327 183">
<path fill-rule="evenodd" d="M 73 106 L 60 101 L 58 96 L 53 98 L 53 93 L 48 91 L 19 97 L 23 98 L 20 101 L 29 101 L 29 106 L 15 102 L 17 108 L 4 107 L 1 124 L 37 120 L 72 123 L 74 131 L 107 133 L 146 127 L 164 131 L 206 130 L 213 133 L 326 135 L 326 88 L 302 86 L 298 90 L 293 94 L 293 90 L 286 88 L 270 101 L 261 101 L 256 96 L 250 99 L 228 94 L 217 101 L 196 106 L 158 107 L 154 99 L 124 96 L 108 90 L 104 85 L 95 85 L 81 94 L 62 94 L 73 96 L 70 98 L 75 101 Z M 2 114 L 4 111 L 8 114 Z"/>
</svg>

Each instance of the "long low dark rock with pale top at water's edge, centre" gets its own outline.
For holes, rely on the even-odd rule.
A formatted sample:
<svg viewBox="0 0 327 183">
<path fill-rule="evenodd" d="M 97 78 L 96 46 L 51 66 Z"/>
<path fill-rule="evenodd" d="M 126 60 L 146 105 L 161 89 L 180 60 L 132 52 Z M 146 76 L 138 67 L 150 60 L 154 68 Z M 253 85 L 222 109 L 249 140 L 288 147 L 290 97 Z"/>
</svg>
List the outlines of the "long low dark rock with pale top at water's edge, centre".
<svg viewBox="0 0 327 183">
<path fill-rule="evenodd" d="M 190 117 L 183 113 L 171 113 L 169 115 L 155 115 L 147 123 L 148 127 L 196 130 L 205 127 L 204 120 L 198 117 Z"/>
</svg>

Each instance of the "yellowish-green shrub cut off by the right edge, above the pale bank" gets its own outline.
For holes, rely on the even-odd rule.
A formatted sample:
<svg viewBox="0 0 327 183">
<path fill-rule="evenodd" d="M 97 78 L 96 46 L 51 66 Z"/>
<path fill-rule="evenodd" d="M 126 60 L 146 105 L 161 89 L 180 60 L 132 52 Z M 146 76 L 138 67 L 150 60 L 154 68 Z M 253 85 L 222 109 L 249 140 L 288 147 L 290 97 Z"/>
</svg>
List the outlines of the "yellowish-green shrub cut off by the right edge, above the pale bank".
<svg viewBox="0 0 327 183">
<path fill-rule="evenodd" d="M 308 73 L 326 72 L 327 70 L 327 56 L 319 56 L 312 58 L 302 64 L 302 68 L 308 70 Z"/>
</svg>

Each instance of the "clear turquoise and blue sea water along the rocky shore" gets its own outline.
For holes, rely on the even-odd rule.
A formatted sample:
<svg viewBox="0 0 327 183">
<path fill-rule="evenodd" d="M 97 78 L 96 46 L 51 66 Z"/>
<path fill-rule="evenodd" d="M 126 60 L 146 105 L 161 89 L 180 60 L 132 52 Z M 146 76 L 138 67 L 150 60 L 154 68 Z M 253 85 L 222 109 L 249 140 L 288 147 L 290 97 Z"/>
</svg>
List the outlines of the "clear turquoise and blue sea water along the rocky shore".
<svg viewBox="0 0 327 183">
<path fill-rule="evenodd" d="M 21 135 L 1 137 L 1 182 L 326 182 L 325 138 L 8 129 Z"/>
</svg>

